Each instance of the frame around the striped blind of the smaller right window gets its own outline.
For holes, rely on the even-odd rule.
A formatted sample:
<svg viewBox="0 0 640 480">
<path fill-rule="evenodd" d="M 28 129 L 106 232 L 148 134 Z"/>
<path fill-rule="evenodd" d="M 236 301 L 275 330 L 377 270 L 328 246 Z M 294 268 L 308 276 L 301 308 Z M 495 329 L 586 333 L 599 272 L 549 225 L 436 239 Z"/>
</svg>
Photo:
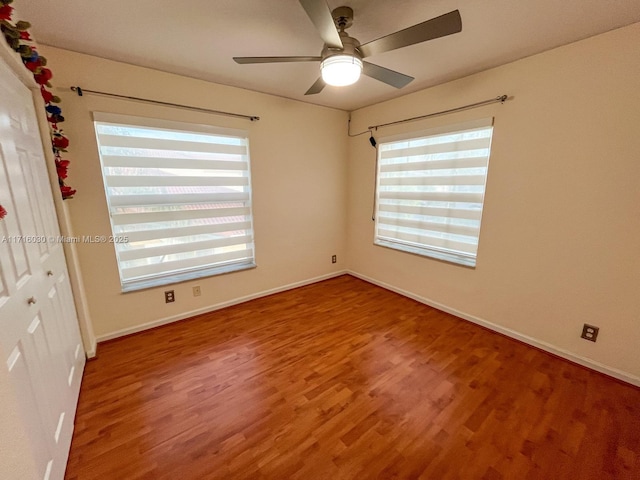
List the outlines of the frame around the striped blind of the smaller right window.
<svg viewBox="0 0 640 480">
<path fill-rule="evenodd" d="M 453 263 L 453 264 L 461 265 L 464 267 L 475 268 L 477 264 L 478 247 L 480 244 L 480 233 L 481 233 L 481 226 L 482 226 L 482 216 L 483 216 L 484 205 L 485 205 L 486 185 L 487 185 L 487 179 L 489 175 L 489 163 L 490 163 L 491 149 L 492 149 L 492 142 L 493 142 L 493 127 L 494 127 L 494 118 L 488 117 L 488 118 L 480 118 L 480 119 L 471 120 L 471 121 L 462 122 L 462 123 L 442 125 L 434 128 L 429 128 L 429 129 L 412 130 L 412 131 L 408 131 L 408 132 L 397 134 L 397 135 L 390 135 L 390 136 L 379 138 L 377 142 L 377 149 L 376 149 L 375 204 L 374 204 L 374 218 L 373 218 L 375 222 L 374 245 L 385 247 L 385 248 L 391 248 L 393 250 L 398 250 L 398 251 L 411 253 L 415 255 L 420 255 L 426 258 L 432 258 L 432 259 L 436 259 L 436 260 L 440 260 L 448 263 Z M 481 192 L 482 199 L 481 199 L 481 202 L 479 202 L 480 203 L 479 212 L 474 212 L 474 216 L 477 217 L 477 222 L 478 222 L 477 235 L 475 236 L 476 238 L 475 252 L 469 253 L 469 252 L 463 252 L 463 251 L 456 251 L 448 248 L 429 245 L 427 243 L 419 243 L 419 242 L 412 243 L 409 241 L 393 239 L 393 238 L 380 235 L 379 234 L 380 225 L 381 225 L 381 222 L 380 222 L 381 198 L 380 197 L 381 197 L 381 179 L 382 179 L 381 170 L 384 166 L 388 165 L 381 160 L 381 155 L 384 151 L 383 147 L 385 145 L 394 144 L 397 142 L 419 141 L 419 140 L 427 139 L 429 137 L 437 137 L 442 135 L 455 135 L 455 134 L 460 134 L 463 132 L 469 132 L 469 131 L 474 131 L 479 129 L 490 129 L 490 134 L 488 139 L 488 153 L 486 155 L 486 165 L 483 167 L 485 169 L 485 172 L 484 172 L 484 182 L 482 183 L 482 192 Z M 455 170 L 457 168 L 461 168 L 461 167 L 455 167 L 455 168 L 452 168 L 451 170 Z M 398 175 L 401 176 L 402 174 L 398 174 Z M 401 178 L 409 178 L 409 177 L 406 176 Z M 425 186 L 431 186 L 431 187 L 434 187 L 436 185 L 442 186 L 442 184 L 439 184 L 439 183 L 425 184 Z M 426 202 L 428 200 L 423 199 L 419 201 Z M 478 202 L 474 202 L 474 203 L 478 203 Z M 438 207 L 435 207 L 435 208 L 438 208 Z M 441 207 L 441 208 L 446 209 L 450 207 Z M 401 215 L 407 215 L 407 220 L 412 220 L 411 212 L 398 211 L 397 213 Z M 456 218 L 456 217 L 443 215 L 441 218 L 446 220 L 451 220 L 452 218 Z M 415 221 L 418 223 L 420 222 L 426 223 L 424 221 L 421 221 L 420 219 L 416 219 Z M 448 224 L 448 222 L 445 222 L 445 224 Z"/>
</svg>

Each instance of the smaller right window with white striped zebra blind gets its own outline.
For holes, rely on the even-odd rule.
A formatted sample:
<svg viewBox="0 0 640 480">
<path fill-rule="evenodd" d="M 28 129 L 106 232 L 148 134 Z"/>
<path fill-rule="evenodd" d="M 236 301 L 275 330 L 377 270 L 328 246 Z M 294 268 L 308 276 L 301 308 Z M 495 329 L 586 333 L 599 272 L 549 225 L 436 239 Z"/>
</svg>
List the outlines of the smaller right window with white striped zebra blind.
<svg viewBox="0 0 640 480">
<path fill-rule="evenodd" d="M 493 119 L 382 138 L 375 244 L 474 267 Z"/>
</svg>

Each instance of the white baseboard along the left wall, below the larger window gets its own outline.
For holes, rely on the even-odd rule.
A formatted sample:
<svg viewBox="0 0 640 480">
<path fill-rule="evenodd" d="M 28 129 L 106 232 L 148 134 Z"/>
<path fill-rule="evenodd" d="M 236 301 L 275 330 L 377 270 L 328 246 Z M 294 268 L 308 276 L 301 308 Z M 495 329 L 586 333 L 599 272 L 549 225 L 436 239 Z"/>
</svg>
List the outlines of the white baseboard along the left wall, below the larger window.
<svg viewBox="0 0 640 480">
<path fill-rule="evenodd" d="M 173 315 L 171 317 L 161 318 L 159 320 L 154 320 L 153 322 L 143 323 L 141 325 L 136 325 L 135 327 L 124 328 L 122 330 L 116 330 L 115 332 L 107 333 L 105 335 L 99 335 L 96 337 L 97 343 L 105 342 L 107 340 L 113 340 L 115 338 L 124 337 L 126 335 L 131 335 L 133 333 L 142 332 L 144 330 L 149 330 L 151 328 L 160 327 L 162 325 L 167 325 L 168 323 L 177 322 L 180 320 L 185 320 L 187 318 L 195 317 L 196 315 L 202 315 L 203 313 L 214 312 L 216 310 L 220 310 L 222 308 L 231 307 L 232 305 L 238 305 L 239 303 L 248 302 L 250 300 L 255 300 L 256 298 L 266 297 L 267 295 L 273 295 L 274 293 L 285 292 L 287 290 L 292 290 L 298 287 L 304 287 L 305 285 L 311 285 L 312 283 L 321 282 L 323 280 L 328 280 L 330 278 L 339 277 L 340 275 L 345 275 L 348 273 L 346 270 L 340 270 L 338 272 L 329 273 L 327 275 L 321 275 L 319 277 L 309 278 L 307 280 L 302 280 L 295 283 L 290 283 L 288 285 L 283 285 L 281 287 L 272 288 L 269 290 L 263 290 L 262 292 L 253 293 L 251 295 L 246 295 L 244 297 L 234 298 L 232 300 L 228 300 L 226 302 L 217 303 L 215 305 L 209 305 L 204 308 L 199 308 L 196 310 L 191 310 L 189 312 L 180 313 L 178 315 Z M 92 352 L 93 355 L 89 356 L 89 352 L 87 352 L 87 356 L 89 358 L 93 358 L 96 356 L 96 351 Z"/>
</svg>

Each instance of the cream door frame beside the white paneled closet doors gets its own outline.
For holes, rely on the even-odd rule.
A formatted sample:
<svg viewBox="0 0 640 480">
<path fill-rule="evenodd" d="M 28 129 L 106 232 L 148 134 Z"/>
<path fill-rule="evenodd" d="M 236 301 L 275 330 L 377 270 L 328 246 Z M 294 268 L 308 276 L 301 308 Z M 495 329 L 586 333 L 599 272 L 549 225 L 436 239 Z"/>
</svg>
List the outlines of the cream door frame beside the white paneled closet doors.
<svg viewBox="0 0 640 480">
<path fill-rule="evenodd" d="M 38 119 L 40 137 L 43 142 L 45 163 L 47 165 L 47 177 L 49 178 L 49 185 L 53 193 L 53 202 L 56 209 L 56 221 L 58 222 L 60 234 L 62 236 L 73 237 L 74 233 L 71 224 L 71 217 L 67 206 L 62 200 L 62 195 L 60 194 L 58 174 L 55 168 L 53 152 L 51 150 L 51 144 L 48 143 L 51 138 L 51 134 L 49 131 L 49 123 L 45 115 L 44 101 L 40 95 L 40 87 L 33 79 L 31 72 L 29 72 L 22 64 L 20 56 L 11 50 L 3 40 L 0 40 L 0 58 L 4 60 L 18 79 L 26 85 L 31 92 L 31 97 L 33 98 L 35 105 L 36 117 Z M 11 215 L 12 212 L 9 212 L 8 214 Z M 91 314 L 89 312 L 84 282 L 82 280 L 82 271 L 80 269 L 78 252 L 75 244 L 73 243 L 65 242 L 63 244 L 63 249 L 67 263 L 67 270 L 69 272 L 73 302 L 78 315 L 78 324 L 80 327 L 80 334 L 82 336 L 82 343 L 87 358 L 93 358 L 96 356 L 97 342 L 93 331 L 93 325 L 91 323 Z"/>
</svg>

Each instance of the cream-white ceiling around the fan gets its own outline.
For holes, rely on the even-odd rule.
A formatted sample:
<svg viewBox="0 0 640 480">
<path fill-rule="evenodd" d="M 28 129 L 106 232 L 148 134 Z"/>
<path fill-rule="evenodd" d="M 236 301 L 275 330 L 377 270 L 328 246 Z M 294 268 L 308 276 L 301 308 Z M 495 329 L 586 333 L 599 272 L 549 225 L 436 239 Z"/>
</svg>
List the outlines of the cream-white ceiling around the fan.
<svg viewBox="0 0 640 480">
<path fill-rule="evenodd" d="M 319 55 L 298 0 L 18 0 L 41 44 L 354 110 L 640 21 L 638 0 L 328 0 L 354 10 L 366 43 L 459 9 L 462 32 L 367 58 L 415 77 L 395 89 L 368 77 L 304 93 L 318 63 L 238 65 L 234 56 Z M 91 88 L 91 85 L 83 85 Z"/>
</svg>

